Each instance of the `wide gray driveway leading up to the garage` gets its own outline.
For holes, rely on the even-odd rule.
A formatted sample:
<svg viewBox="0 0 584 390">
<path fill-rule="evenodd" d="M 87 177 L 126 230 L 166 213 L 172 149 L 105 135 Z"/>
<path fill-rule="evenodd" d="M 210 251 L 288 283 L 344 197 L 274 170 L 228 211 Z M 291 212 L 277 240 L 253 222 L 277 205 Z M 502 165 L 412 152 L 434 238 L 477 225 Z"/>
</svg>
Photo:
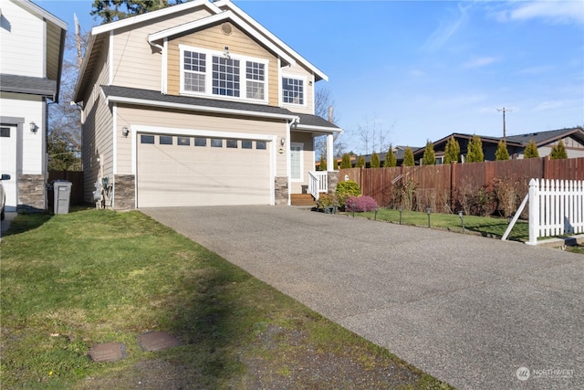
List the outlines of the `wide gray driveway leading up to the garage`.
<svg viewBox="0 0 584 390">
<path fill-rule="evenodd" d="M 582 255 L 292 206 L 141 211 L 458 388 L 584 388 Z"/>
</svg>

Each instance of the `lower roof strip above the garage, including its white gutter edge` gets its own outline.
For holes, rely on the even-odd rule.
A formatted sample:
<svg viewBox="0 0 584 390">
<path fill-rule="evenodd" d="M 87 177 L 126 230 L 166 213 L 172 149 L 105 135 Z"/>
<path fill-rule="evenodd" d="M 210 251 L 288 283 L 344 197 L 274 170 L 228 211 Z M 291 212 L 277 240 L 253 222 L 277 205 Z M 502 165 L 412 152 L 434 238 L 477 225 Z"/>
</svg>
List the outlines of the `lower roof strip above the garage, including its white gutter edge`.
<svg viewBox="0 0 584 390">
<path fill-rule="evenodd" d="M 299 130 L 319 132 L 342 132 L 336 125 L 309 114 L 298 114 L 287 109 L 265 104 L 244 103 L 231 100 L 206 99 L 191 96 L 164 95 L 157 90 L 140 90 L 114 85 L 101 86 L 107 100 L 111 102 L 161 107 L 173 110 L 215 112 L 249 117 L 297 121 Z"/>
</svg>

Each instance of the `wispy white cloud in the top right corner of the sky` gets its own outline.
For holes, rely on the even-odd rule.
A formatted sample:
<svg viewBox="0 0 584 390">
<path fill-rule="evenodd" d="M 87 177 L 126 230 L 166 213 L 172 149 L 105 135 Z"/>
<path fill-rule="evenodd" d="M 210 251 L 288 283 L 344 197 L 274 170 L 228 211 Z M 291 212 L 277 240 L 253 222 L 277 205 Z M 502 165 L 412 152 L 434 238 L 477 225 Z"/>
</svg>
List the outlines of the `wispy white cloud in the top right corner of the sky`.
<svg viewBox="0 0 584 390">
<path fill-rule="evenodd" d="M 500 21 L 541 18 L 549 23 L 584 23 L 584 2 L 573 0 L 520 2 L 511 10 L 498 14 Z"/>
</svg>

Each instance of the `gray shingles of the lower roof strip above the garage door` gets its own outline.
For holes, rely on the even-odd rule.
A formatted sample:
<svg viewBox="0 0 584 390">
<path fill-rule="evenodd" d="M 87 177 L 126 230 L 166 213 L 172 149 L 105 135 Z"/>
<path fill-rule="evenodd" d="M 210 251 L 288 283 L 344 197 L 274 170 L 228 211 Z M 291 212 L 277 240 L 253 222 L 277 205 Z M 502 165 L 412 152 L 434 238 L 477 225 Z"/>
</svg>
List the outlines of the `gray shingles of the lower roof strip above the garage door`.
<svg viewBox="0 0 584 390">
<path fill-rule="evenodd" d="M 252 115 L 253 113 L 264 113 L 271 115 L 282 115 L 283 117 L 297 116 L 300 118 L 300 124 L 302 125 L 327 127 L 331 130 L 340 130 L 339 127 L 328 121 L 325 121 L 316 115 L 299 114 L 281 107 L 268 106 L 265 104 L 243 103 L 231 100 L 205 99 L 191 96 L 164 95 L 157 90 L 141 90 L 137 88 L 120 87 L 115 85 L 102 85 L 101 89 L 107 98 L 117 97 L 135 100 L 147 100 L 152 102 L 189 105 L 193 106 L 193 108 L 201 107 L 224 109 L 225 111 L 247 111 Z"/>
</svg>

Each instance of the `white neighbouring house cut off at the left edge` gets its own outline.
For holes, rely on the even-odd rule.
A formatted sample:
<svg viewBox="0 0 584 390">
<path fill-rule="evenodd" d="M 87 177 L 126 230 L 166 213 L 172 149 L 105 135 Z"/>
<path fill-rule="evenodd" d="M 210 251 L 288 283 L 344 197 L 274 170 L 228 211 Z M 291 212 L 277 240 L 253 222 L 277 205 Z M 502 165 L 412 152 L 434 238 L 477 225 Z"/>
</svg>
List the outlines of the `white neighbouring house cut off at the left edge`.
<svg viewBox="0 0 584 390">
<path fill-rule="evenodd" d="M 47 104 L 58 101 L 67 24 L 28 0 L 0 5 L 0 171 L 6 211 L 47 208 Z"/>
</svg>

